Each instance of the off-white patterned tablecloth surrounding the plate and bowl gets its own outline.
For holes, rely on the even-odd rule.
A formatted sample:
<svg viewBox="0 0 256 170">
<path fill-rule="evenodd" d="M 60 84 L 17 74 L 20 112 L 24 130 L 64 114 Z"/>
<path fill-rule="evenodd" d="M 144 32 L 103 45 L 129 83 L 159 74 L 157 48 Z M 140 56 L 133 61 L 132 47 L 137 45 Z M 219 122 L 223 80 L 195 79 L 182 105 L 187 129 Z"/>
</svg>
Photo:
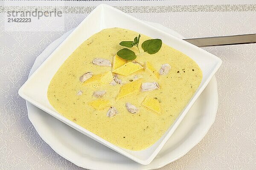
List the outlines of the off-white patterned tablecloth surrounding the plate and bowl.
<svg viewBox="0 0 256 170">
<path fill-rule="evenodd" d="M 17 90 L 26 81 L 35 58 L 44 48 L 64 32 L 76 27 L 87 16 L 86 6 L 96 6 L 98 3 L 100 2 L 0 2 L 0 170 L 82 170 L 55 153 L 40 138 L 29 122 L 26 103 L 18 96 Z M 119 6 L 139 19 L 161 23 L 185 37 L 256 33 L 255 0 L 105 3 Z M 205 6 L 206 4 L 217 6 Z M 233 6 L 227 6 L 230 4 Z M 131 5 L 135 7 L 127 7 Z M 173 8 L 174 5 L 181 7 Z M 4 8 L 7 6 L 82 8 L 79 11 L 76 11 L 78 8 L 72 8 L 63 15 L 64 31 L 28 32 L 5 31 Z M 44 24 L 50 29 L 56 22 L 51 20 Z M 209 47 L 205 50 L 223 60 L 216 74 L 219 108 L 215 123 L 189 153 L 162 170 L 256 169 L 256 44 Z"/>
</svg>

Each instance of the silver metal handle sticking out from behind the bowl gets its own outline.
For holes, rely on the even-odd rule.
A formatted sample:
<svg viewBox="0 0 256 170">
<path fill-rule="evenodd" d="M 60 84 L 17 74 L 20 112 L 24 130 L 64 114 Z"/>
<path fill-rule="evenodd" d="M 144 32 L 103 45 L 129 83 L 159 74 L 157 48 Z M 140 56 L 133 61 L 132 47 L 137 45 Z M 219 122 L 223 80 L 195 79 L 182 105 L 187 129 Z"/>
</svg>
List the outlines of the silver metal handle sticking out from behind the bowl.
<svg viewBox="0 0 256 170">
<path fill-rule="evenodd" d="M 200 37 L 183 39 L 198 47 L 210 47 L 218 45 L 236 45 L 256 43 L 256 34 L 241 34 L 220 37 Z"/>
</svg>

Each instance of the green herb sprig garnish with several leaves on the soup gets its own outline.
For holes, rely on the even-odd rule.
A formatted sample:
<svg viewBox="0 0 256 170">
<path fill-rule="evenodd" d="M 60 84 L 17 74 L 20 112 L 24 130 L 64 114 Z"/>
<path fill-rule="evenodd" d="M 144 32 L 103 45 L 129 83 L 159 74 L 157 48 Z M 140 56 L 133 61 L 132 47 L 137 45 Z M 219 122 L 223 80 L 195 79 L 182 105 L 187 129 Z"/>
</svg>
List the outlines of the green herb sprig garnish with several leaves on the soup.
<svg viewBox="0 0 256 170">
<path fill-rule="evenodd" d="M 122 41 L 119 43 L 119 45 L 132 48 L 133 46 L 136 46 L 138 48 L 138 51 L 140 53 L 140 48 L 139 48 L 139 42 L 140 42 L 140 34 L 138 37 L 134 38 L 134 41 Z M 146 40 L 142 43 L 141 47 L 143 48 L 144 52 L 147 52 L 148 54 L 155 54 L 157 53 L 162 46 L 162 40 L 160 39 L 151 39 L 151 40 Z M 117 56 L 126 59 L 126 60 L 134 60 L 137 58 L 136 54 L 134 51 L 131 51 L 128 48 L 122 48 L 117 52 Z M 141 54 L 141 53 L 140 53 Z"/>
</svg>

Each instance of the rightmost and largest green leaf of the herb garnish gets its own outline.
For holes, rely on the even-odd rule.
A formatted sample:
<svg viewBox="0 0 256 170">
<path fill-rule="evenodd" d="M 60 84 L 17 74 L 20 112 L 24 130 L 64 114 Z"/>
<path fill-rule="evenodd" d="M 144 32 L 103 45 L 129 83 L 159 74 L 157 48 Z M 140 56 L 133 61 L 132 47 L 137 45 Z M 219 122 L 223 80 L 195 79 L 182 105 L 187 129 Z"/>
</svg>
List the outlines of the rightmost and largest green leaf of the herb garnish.
<svg viewBox="0 0 256 170">
<path fill-rule="evenodd" d="M 143 50 L 148 54 L 157 53 L 160 50 L 161 46 L 162 46 L 162 40 L 160 39 L 146 40 L 141 45 Z"/>
</svg>

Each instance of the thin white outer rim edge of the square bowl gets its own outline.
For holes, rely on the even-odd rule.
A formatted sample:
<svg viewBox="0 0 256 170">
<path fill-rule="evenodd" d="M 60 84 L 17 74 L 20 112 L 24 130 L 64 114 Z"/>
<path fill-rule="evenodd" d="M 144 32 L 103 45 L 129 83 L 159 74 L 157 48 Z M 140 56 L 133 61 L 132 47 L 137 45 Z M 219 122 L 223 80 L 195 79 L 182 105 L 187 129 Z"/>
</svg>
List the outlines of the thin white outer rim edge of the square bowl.
<svg viewBox="0 0 256 170">
<path fill-rule="evenodd" d="M 148 23 L 145 23 L 135 17 L 132 17 L 131 15 L 129 14 L 126 14 L 125 12 L 122 12 L 116 8 L 113 8 L 112 6 L 108 6 L 106 4 L 100 4 L 99 6 L 97 6 L 84 20 L 86 20 L 88 17 L 90 17 L 93 12 L 95 12 L 97 9 L 103 9 L 103 8 L 108 8 L 108 9 L 111 9 L 111 10 L 114 10 L 114 11 L 117 11 L 119 13 L 122 13 L 122 14 L 125 14 L 125 16 L 131 18 L 132 20 L 136 20 L 137 22 L 140 22 L 140 23 L 143 23 L 145 26 L 149 27 L 149 28 L 154 28 L 154 30 L 157 30 L 159 32 L 161 32 L 162 34 L 166 34 L 170 37 L 173 37 L 177 40 L 180 40 L 179 38 L 171 35 L 171 34 L 168 34 L 168 33 L 165 33 L 164 31 L 162 31 L 160 28 L 157 28 L 157 27 L 154 27 L 154 26 L 151 26 L 150 24 Z M 84 23 L 84 20 L 79 24 L 79 26 L 81 26 L 81 24 Z M 71 34 L 68 36 L 68 37 L 72 37 L 73 36 L 73 33 L 77 30 L 77 28 L 79 28 L 79 26 L 77 26 L 72 32 Z M 68 38 L 67 37 L 67 38 Z M 67 38 L 58 46 L 58 48 L 55 49 L 55 51 L 59 50 L 61 48 L 61 45 L 63 43 L 66 42 Z M 184 43 L 188 43 L 190 44 L 189 42 L 186 42 L 184 41 Z M 190 44 L 192 45 L 192 44 Z M 192 46 L 195 46 L 195 45 L 192 45 Z M 197 47 L 198 48 L 198 47 Z M 201 48 L 198 48 L 198 50 L 201 50 L 201 51 L 204 51 L 203 49 Z M 208 52 L 207 52 L 208 53 Z M 111 148 L 112 150 L 115 150 L 116 152 L 118 153 L 121 153 L 122 155 L 140 163 L 140 164 L 149 164 L 153 159 L 154 157 L 157 155 L 157 153 L 159 153 L 159 151 L 161 150 L 161 148 L 164 146 L 164 144 L 167 142 L 167 140 L 169 139 L 169 137 L 172 135 L 172 133 L 174 132 L 174 130 L 177 128 L 177 126 L 179 125 L 179 123 L 181 122 L 181 120 L 183 119 L 183 117 L 186 115 L 187 111 L 191 108 L 192 104 L 195 102 L 195 100 L 198 98 L 198 96 L 201 94 L 201 92 L 204 90 L 204 88 L 207 86 L 207 84 L 209 83 L 210 79 L 213 77 L 213 75 L 215 74 L 215 72 L 218 70 L 218 68 L 220 67 L 222 61 L 221 59 L 219 59 L 218 57 L 214 56 L 212 54 L 212 57 L 214 57 L 218 63 L 217 65 L 215 65 L 215 68 L 214 68 L 214 71 L 212 71 L 212 73 L 210 74 L 209 77 L 207 77 L 207 80 L 206 82 L 204 83 L 204 85 L 202 85 L 202 87 L 200 89 L 197 90 L 196 94 L 192 97 L 192 99 L 189 101 L 189 103 L 186 105 L 186 107 L 184 108 L 183 111 L 180 112 L 180 115 L 175 119 L 175 122 L 173 122 L 173 124 L 169 127 L 169 129 L 174 129 L 174 130 L 170 130 L 168 133 L 166 131 L 166 136 L 164 137 L 164 139 L 162 139 L 162 141 L 160 142 L 160 144 L 157 146 L 157 148 L 154 150 L 154 152 L 147 158 L 147 159 L 139 159 L 133 155 L 131 155 L 130 153 L 126 152 L 123 148 L 120 148 L 116 145 L 113 145 L 112 143 L 106 141 L 105 139 L 102 139 L 101 137 L 97 136 L 96 134 L 90 132 L 89 130 L 86 130 L 85 128 L 77 125 L 76 123 L 70 121 L 69 119 L 65 118 L 64 116 L 61 116 L 61 114 L 57 113 L 57 112 L 54 112 L 52 110 L 50 110 L 49 108 L 45 107 L 44 105 L 42 105 L 40 102 L 37 102 L 36 100 L 32 99 L 31 97 L 29 97 L 28 95 L 26 95 L 24 89 L 26 87 L 26 85 L 28 84 L 29 80 L 34 77 L 38 71 L 41 71 L 40 68 L 45 65 L 47 63 L 48 60 L 50 60 L 52 57 L 54 56 L 54 52 L 42 63 L 42 65 L 31 75 L 31 77 L 29 77 L 29 79 L 20 87 L 19 91 L 18 91 L 18 94 L 23 98 L 25 99 L 26 101 L 30 102 L 32 105 L 35 105 L 36 107 L 40 108 L 41 110 L 49 113 L 50 115 L 54 116 L 55 118 L 59 119 L 60 121 L 64 122 L 65 124 L 69 125 L 70 127 L 73 127 L 74 129 L 78 130 L 79 132 L 83 133 L 84 135 L 96 140 L 97 142 Z M 190 105 L 190 106 L 189 106 Z M 176 127 L 175 127 L 175 126 Z M 163 135 L 164 136 L 164 135 Z M 160 139 L 159 139 L 160 140 Z M 136 151 L 136 152 L 140 152 L 140 151 Z"/>
</svg>

